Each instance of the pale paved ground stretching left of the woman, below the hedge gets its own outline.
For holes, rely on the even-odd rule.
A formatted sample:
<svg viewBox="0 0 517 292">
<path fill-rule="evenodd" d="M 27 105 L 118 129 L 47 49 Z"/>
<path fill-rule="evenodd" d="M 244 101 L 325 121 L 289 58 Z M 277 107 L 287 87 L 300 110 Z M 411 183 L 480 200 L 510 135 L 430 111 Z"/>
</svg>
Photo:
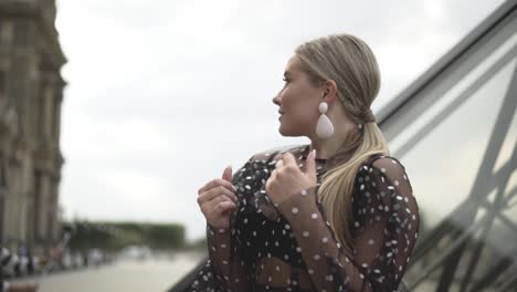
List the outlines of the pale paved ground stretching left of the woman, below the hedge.
<svg viewBox="0 0 517 292">
<path fill-rule="evenodd" d="M 39 292 L 166 291 L 199 260 L 199 254 L 178 254 L 173 260 L 120 261 L 23 282 L 39 282 Z"/>
</svg>

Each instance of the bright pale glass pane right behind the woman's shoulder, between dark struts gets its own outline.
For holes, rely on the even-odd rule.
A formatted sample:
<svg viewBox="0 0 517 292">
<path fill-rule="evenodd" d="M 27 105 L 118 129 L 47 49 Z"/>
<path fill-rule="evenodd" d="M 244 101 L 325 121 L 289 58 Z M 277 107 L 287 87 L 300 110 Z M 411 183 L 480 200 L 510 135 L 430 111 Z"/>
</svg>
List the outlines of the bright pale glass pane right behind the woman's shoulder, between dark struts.
<svg viewBox="0 0 517 292">
<path fill-rule="evenodd" d="M 449 118 L 401 155 L 423 211 L 425 228 L 435 226 L 471 192 L 516 60 L 502 67 Z M 461 81 L 458 86 L 464 87 L 464 83 Z M 455 88 L 451 92 L 458 96 Z"/>
</svg>

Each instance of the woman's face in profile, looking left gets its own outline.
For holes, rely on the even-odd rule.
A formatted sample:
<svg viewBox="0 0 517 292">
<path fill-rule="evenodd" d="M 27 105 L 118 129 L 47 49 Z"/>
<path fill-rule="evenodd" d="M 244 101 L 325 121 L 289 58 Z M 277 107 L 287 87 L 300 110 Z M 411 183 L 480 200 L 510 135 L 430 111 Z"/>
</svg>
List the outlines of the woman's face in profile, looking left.
<svg viewBox="0 0 517 292">
<path fill-rule="evenodd" d="M 283 136 L 314 136 L 323 98 L 323 87 L 316 87 L 300 70 L 296 55 L 287 62 L 284 87 L 273 98 L 281 114 L 278 132 Z"/>
</svg>

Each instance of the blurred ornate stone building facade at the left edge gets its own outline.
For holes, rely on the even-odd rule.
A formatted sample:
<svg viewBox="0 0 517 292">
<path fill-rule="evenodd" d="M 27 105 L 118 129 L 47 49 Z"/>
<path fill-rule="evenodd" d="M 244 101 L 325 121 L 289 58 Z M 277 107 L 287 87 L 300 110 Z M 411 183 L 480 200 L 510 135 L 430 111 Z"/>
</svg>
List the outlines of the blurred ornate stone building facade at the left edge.
<svg viewBox="0 0 517 292">
<path fill-rule="evenodd" d="M 60 237 L 61 107 L 66 59 L 55 0 L 0 0 L 0 241 Z"/>
</svg>

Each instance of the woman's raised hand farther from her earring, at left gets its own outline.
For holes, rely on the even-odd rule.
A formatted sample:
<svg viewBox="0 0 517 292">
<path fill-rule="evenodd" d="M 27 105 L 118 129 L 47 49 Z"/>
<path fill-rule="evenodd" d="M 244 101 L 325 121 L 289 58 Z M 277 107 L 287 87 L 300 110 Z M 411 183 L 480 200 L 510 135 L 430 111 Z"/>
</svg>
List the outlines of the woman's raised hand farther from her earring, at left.
<svg viewBox="0 0 517 292">
<path fill-rule="evenodd" d="M 198 205 L 214 228 L 230 228 L 230 215 L 236 208 L 238 198 L 231 182 L 232 167 L 224 168 L 222 178 L 212 179 L 198 190 Z"/>
</svg>

